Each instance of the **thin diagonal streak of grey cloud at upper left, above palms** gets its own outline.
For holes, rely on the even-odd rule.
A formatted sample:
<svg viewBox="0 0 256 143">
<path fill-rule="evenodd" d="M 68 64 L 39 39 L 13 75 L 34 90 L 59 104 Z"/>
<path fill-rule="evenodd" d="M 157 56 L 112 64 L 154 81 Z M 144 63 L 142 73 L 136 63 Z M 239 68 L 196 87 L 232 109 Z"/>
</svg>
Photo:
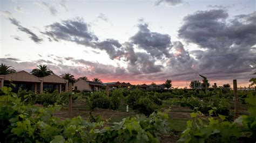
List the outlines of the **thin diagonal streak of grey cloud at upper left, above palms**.
<svg viewBox="0 0 256 143">
<path fill-rule="evenodd" d="M 35 33 L 33 33 L 31 30 L 29 30 L 26 27 L 23 27 L 20 22 L 18 22 L 18 20 L 16 20 L 15 18 L 9 18 L 9 20 L 11 21 L 12 24 L 16 25 L 18 27 L 18 30 L 23 31 L 27 34 L 29 34 L 30 39 L 33 40 L 34 42 L 36 42 L 37 44 L 39 44 L 41 41 L 43 41 L 43 39 L 39 38 Z"/>
</svg>

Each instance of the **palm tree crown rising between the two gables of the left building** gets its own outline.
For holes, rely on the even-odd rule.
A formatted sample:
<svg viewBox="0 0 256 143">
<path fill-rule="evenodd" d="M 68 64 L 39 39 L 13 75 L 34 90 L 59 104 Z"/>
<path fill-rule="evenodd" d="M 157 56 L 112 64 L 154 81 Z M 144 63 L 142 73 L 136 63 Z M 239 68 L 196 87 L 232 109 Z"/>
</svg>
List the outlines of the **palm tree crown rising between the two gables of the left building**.
<svg viewBox="0 0 256 143">
<path fill-rule="evenodd" d="M 38 68 L 33 69 L 30 73 L 37 77 L 44 77 L 53 74 L 50 68 L 46 65 L 39 65 Z"/>
</svg>

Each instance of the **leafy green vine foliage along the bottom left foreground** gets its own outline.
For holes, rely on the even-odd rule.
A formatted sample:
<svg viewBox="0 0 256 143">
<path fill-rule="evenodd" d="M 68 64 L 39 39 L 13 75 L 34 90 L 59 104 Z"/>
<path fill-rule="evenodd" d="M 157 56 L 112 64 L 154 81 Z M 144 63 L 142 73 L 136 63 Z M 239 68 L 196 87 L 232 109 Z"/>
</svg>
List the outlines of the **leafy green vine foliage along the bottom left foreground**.
<svg viewBox="0 0 256 143">
<path fill-rule="evenodd" d="M 160 134 L 170 131 L 165 113 L 124 118 L 111 126 L 105 121 L 91 123 L 80 116 L 60 120 L 52 116 L 58 106 L 24 105 L 11 88 L 2 90 L 0 135 L 5 138 L 1 142 L 159 142 Z"/>
</svg>

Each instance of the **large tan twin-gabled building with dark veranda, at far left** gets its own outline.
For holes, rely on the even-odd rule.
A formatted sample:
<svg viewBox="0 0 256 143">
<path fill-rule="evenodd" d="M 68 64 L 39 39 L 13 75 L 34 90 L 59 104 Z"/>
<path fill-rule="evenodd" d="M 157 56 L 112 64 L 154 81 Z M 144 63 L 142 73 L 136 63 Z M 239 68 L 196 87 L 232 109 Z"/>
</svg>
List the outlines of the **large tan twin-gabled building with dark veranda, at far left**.
<svg viewBox="0 0 256 143">
<path fill-rule="evenodd" d="M 12 74 L 0 75 L 0 80 L 0 88 L 4 85 L 9 85 L 10 82 L 12 82 L 16 85 L 15 88 L 12 88 L 13 92 L 17 92 L 19 88 L 22 88 L 34 91 L 35 93 L 39 92 L 40 94 L 44 90 L 48 90 L 49 92 L 58 90 L 59 93 L 68 91 L 69 82 L 55 74 L 45 77 L 37 77 L 24 70 Z"/>
</svg>

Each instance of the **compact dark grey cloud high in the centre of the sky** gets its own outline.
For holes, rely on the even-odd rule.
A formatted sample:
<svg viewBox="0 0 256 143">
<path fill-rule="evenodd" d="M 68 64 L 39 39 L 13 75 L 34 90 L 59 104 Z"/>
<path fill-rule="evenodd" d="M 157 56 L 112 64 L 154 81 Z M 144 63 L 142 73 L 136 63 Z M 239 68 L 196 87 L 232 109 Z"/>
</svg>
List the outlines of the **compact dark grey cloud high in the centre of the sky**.
<svg viewBox="0 0 256 143">
<path fill-rule="evenodd" d="M 151 56 L 161 59 L 163 55 L 170 57 L 171 37 L 168 34 L 151 32 L 149 25 L 139 24 L 139 31 L 130 40 L 138 48 L 145 49 Z"/>
</svg>

